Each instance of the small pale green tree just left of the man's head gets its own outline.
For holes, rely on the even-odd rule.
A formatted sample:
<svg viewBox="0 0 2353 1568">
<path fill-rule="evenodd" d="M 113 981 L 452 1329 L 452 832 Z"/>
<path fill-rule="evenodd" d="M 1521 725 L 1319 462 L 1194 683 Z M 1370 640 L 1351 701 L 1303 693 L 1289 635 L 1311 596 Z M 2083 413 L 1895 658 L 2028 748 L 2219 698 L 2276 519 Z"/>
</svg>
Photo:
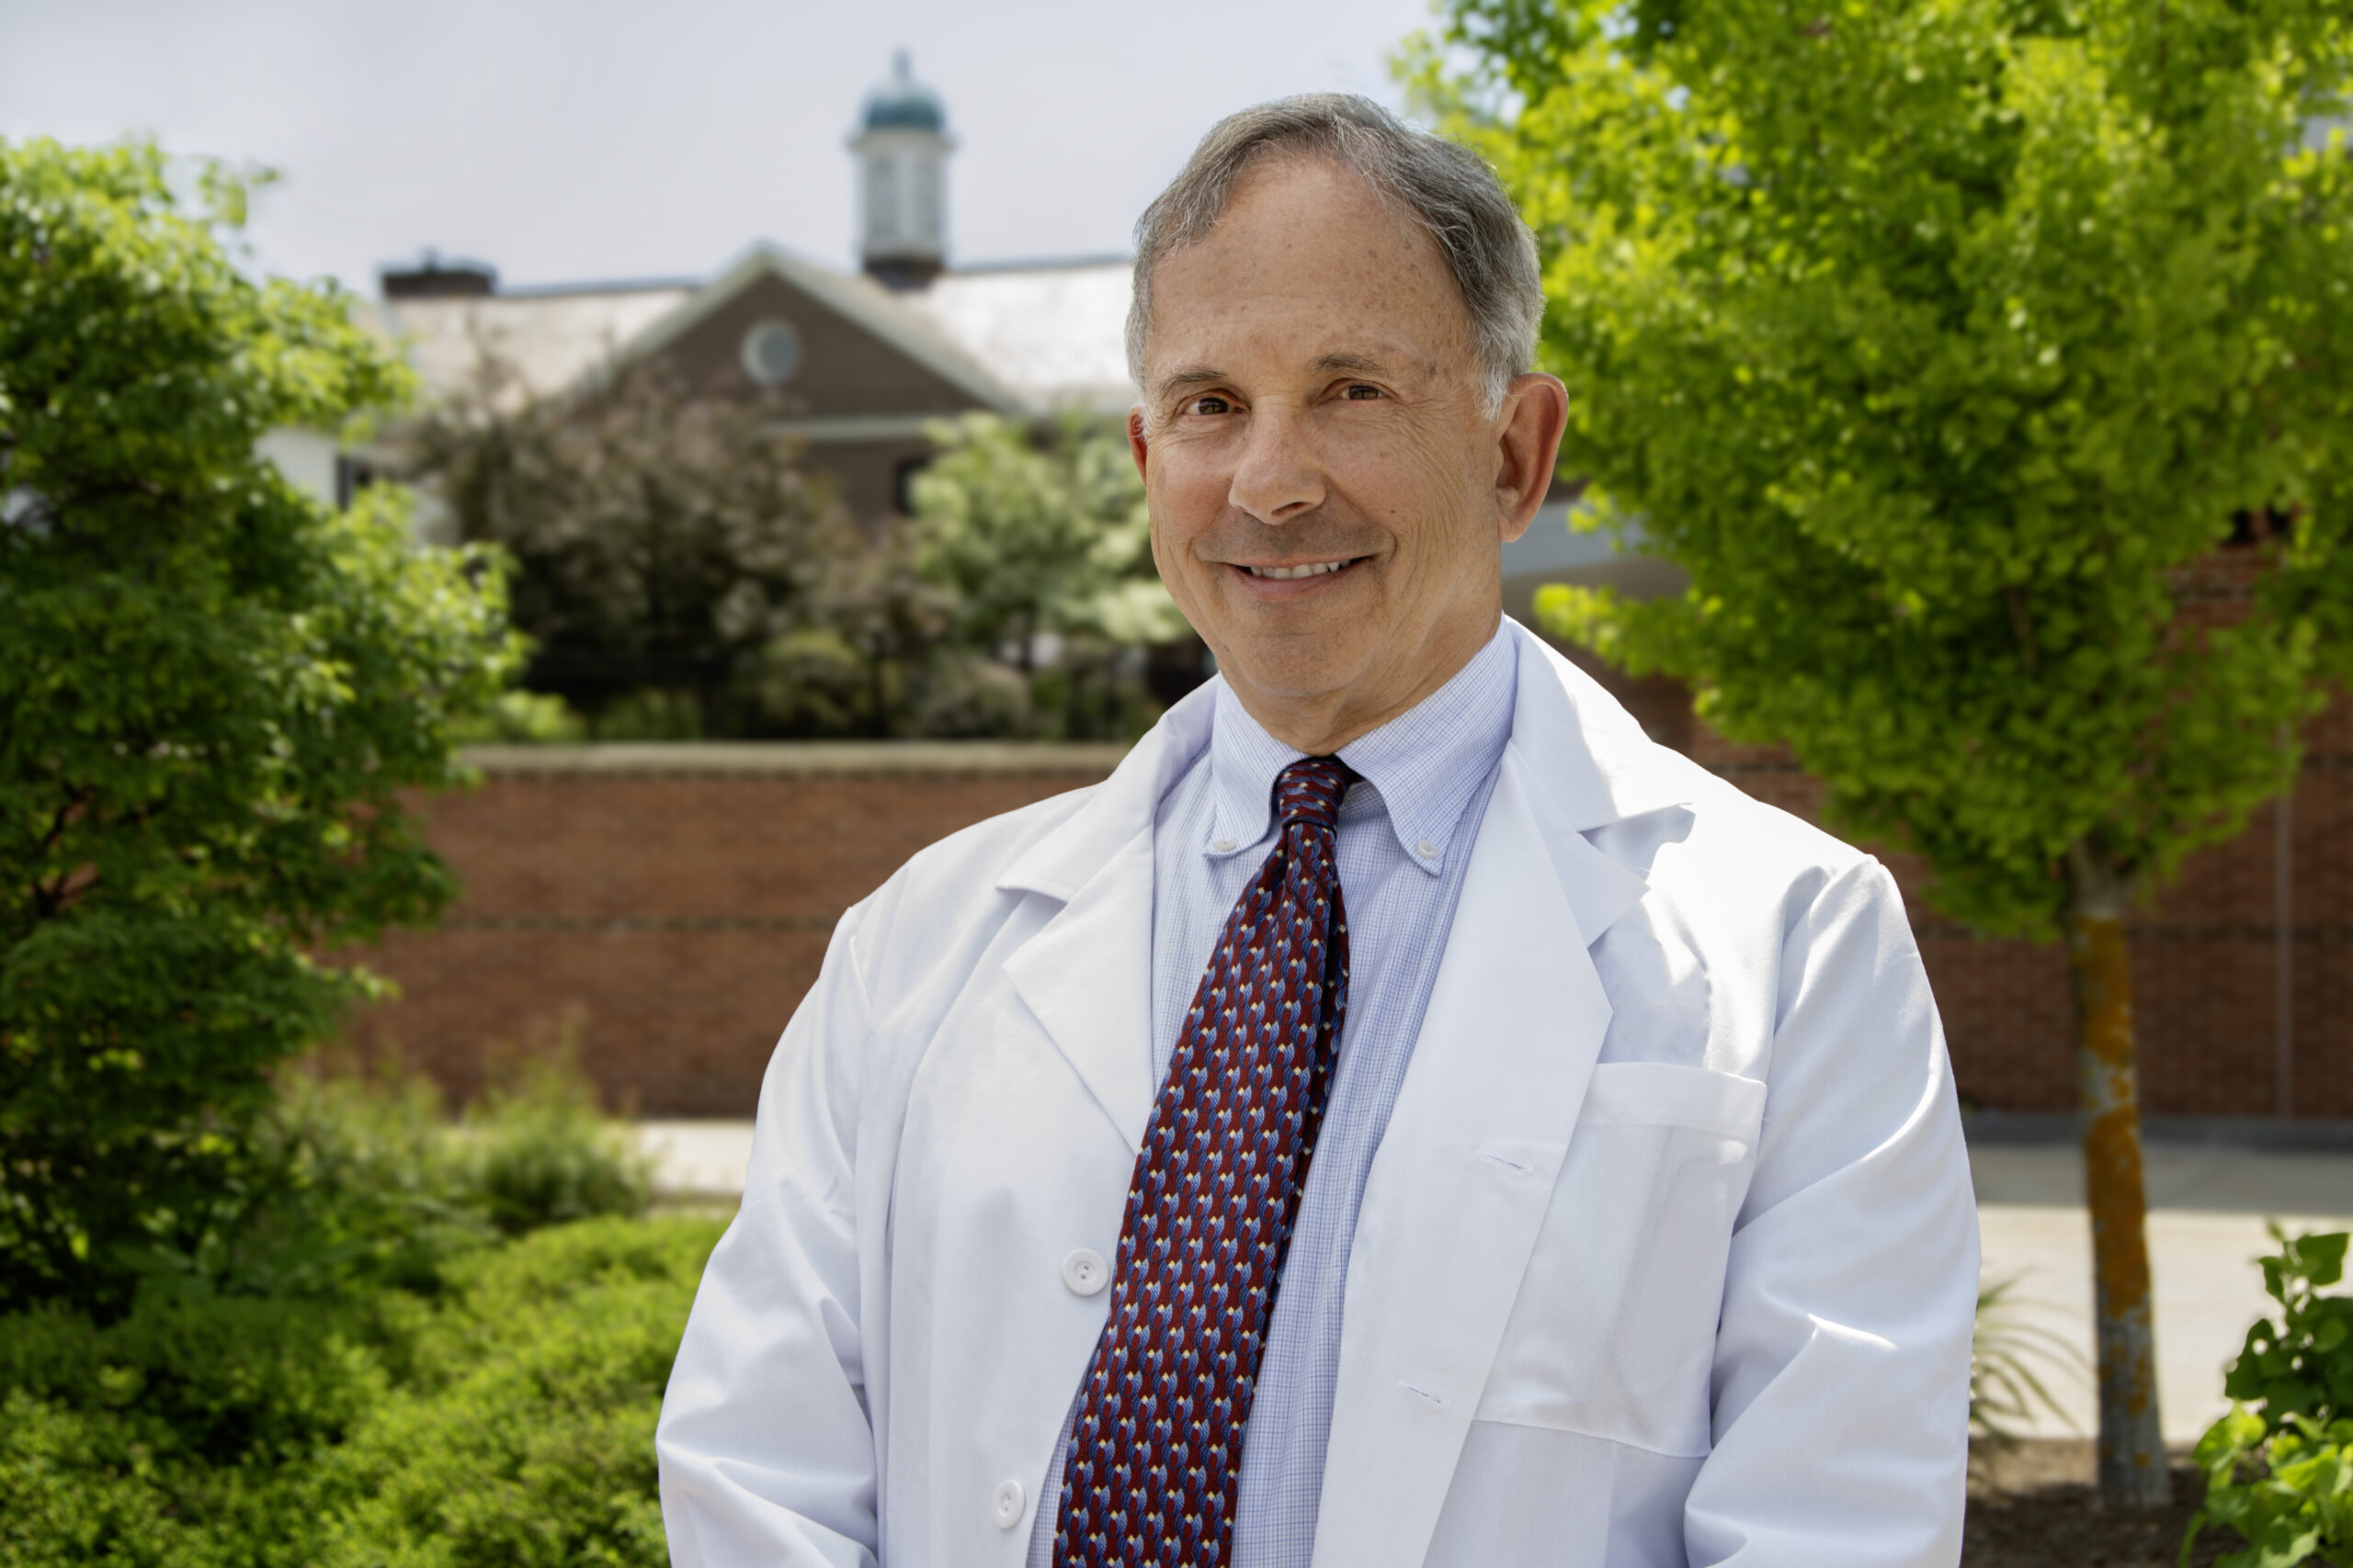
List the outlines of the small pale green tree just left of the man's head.
<svg viewBox="0 0 2353 1568">
<path fill-rule="evenodd" d="M 1054 637 L 1064 729 L 1104 729 L 1080 710 L 1115 705 L 1118 651 L 1186 632 L 1153 569 L 1127 442 L 1068 416 L 1040 444 L 991 414 L 934 425 L 932 440 L 941 454 L 915 480 L 915 571 L 948 595 L 948 637 L 1026 682 L 1040 637 Z"/>
</svg>

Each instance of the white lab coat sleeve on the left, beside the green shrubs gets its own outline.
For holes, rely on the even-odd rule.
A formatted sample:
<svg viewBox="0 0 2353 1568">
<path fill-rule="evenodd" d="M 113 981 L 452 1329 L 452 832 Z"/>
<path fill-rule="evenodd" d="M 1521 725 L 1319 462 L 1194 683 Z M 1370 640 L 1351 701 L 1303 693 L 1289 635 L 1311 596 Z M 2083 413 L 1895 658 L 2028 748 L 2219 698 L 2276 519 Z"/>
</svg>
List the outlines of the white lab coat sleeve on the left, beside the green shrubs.
<svg viewBox="0 0 2353 1568">
<path fill-rule="evenodd" d="M 675 1568 L 873 1568 L 875 1439 L 854 1194 L 868 1001 L 842 917 L 760 1086 L 744 1206 L 711 1253 L 654 1450 Z"/>
</svg>

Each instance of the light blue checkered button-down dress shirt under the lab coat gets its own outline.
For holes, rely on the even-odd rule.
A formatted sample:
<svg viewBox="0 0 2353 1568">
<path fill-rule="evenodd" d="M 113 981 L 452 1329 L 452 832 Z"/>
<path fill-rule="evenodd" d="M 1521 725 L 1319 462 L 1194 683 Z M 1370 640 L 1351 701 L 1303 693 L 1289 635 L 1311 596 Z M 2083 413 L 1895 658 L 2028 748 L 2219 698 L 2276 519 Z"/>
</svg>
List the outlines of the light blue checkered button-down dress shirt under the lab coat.
<svg viewBox="0 0 2353 1568">
<path fill-rule="evenodd" d="M 1471 844 L 1511 741 L 1515 691 L 1513 642 L 1497 628 L 1454 679 L 1339 752 L 1362 778 L 1339 809 L 1348 1020 L 1242 1436 L 1235 1568 L 1308 1568 L 1315 1554 L 1355 1213 L 1431 1006 Z M 1176 1056 L 1176 1030 L 1217 933 L 1275 846 L 1275 773 L 1299 757 L 1219 684 L 1209 745 L 1160 799 L 1153 818 L 1155 1081 Z M 1071 1408 L 1078 1408 L 1075 1394 Z M 1068 1436 L 1064 1418 L 1038 1493 L 1031 1568 L 1054 1563 Z"/>
</svg>

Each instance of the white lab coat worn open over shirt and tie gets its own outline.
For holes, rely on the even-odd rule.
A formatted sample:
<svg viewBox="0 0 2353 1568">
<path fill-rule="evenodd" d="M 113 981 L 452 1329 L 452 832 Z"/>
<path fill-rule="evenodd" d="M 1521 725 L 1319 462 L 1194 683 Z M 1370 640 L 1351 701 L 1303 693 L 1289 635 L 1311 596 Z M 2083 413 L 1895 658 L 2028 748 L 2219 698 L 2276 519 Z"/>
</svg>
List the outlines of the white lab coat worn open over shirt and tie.
<svg viewBox="0 0 2353 1568">
<path fill-rule="evenodd" d="M 1868 856 L 1513 628 L 1501 778 L 1365 1185 L 1315 1568 L 1948 1566 L 1977 1218 Z M 1016 1568 L 1153 1105 L 1153 806 L 1089 790 L 842 917 L 661 1413 L 678 1568 Z"/>
</svg>

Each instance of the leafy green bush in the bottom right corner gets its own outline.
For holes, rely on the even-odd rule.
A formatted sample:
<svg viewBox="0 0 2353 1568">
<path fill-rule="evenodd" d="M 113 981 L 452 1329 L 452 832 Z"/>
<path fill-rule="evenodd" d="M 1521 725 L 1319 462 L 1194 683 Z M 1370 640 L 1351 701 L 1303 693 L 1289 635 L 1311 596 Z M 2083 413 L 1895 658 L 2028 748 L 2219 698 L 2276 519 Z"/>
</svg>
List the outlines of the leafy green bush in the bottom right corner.
<svg viewBox="0 0 2353 1568">
<path fill-rule="evenodd" d="M 2198 1439 L 2205 1507 L 2181 1542 L 2228 1526 L 2245 1552 L 2217 1568 L 2353 1563 L 2353 1295 L 2320 1295 L 2344 1279 L 2346 1232 L 2289 1239 L 2264 1258 L 2264 1291 L 2280 1319 L 2259 1319 L 2231 1363 L 2231 1413 Z"/>
</svg>

